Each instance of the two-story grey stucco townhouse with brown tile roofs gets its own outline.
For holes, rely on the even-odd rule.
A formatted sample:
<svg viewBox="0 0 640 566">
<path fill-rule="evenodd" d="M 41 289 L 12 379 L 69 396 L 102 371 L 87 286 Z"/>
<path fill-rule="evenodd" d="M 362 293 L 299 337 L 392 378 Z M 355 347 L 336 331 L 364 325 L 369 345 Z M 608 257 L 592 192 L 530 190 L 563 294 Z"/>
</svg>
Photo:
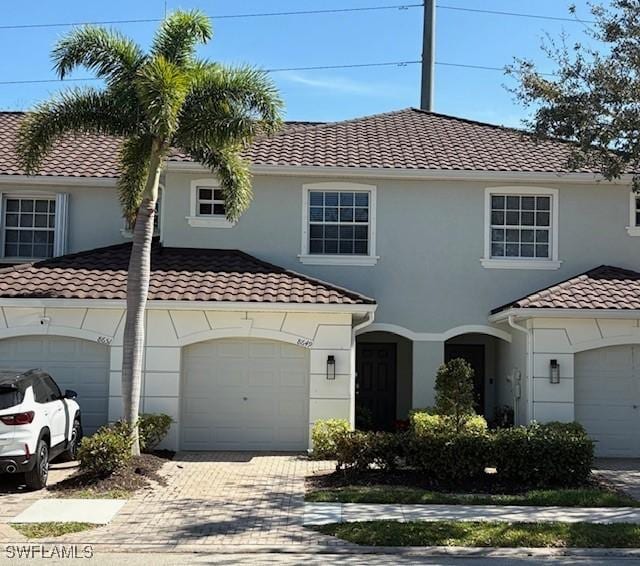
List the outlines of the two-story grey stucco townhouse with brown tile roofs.
<svg viewBox="0 0 640 566">
<path fill-rule="evenodd" d="M 69 139 L 26 177 L 20 119 L 0 115 L 0 365 L 78 390 L 91 430 L 121 411 L 118 143 Z M 431 405 L 461 356 L 488 418 L 575 419 L 600 454 L 640 456 L 640 201 L 569 153 L 415 109 L 292 123 L 247 149 L 235 224 L 173 154 L 142 410 L 173 416 L 173 448 L 306 449 L 317 419 L 389 429 Z"/>
</svg>

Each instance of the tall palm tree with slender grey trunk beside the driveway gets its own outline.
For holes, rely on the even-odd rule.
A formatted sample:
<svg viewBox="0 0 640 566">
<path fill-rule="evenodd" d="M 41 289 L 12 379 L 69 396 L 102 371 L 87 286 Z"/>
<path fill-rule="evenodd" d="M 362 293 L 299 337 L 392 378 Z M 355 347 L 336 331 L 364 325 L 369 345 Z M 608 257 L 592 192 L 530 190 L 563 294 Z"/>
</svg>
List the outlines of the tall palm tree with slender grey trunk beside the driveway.
<svg viewBox="0 0 640 566">
<path fill-rule="evenodd" d="M 117 31 L 77 28 L 53 50 L 57 75 L 64 79 L 85 67 L 104 86 L 62 92 L 28 113 L 20 129 L 17 149 L 27 174 L 37 173 L 65 136 L 122 139 L 118 194 L 123 215 L 134 223 L 122 362 L 124 418 L 133 425 L 133 454 L 140 450 L 144 313 L 153 218 L 166 157 L 177 148 L 209 167 L 220 180 L 227 218 L 237 220 L 252 196 L 249 166 L 240 152 L 258 133 L 271 133 L 281 125 L 282 101 L 265 72 L 196 57 L 196 47 L 211 36 L 211 22 L 200 11 L 167 17 L 146 53 Z"/>
</svg>

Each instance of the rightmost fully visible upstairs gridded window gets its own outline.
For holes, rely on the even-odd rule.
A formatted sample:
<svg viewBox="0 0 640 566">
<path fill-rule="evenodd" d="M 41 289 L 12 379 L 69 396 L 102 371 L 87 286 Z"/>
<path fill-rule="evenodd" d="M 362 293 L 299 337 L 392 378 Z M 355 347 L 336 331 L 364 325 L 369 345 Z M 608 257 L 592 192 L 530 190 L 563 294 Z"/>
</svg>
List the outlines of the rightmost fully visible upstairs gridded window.
<svg viewBox="0 0 640 566">
<path fill-rule="evenodd" d="M 551 259 L 548 195 L 491 195 L 491 257 Z"/>
</svg>

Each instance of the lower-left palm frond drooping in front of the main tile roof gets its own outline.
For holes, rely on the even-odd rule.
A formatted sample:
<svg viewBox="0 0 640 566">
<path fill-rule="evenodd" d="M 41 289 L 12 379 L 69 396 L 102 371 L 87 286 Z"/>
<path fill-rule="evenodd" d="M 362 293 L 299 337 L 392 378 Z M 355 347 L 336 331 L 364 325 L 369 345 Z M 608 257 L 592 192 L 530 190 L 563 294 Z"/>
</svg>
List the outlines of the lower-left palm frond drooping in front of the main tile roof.
<svg viewBox="0 0 640 566">
<path fill-rule="evenodd" d="M 135 124 L 108 91 L 75 88 L 62 92 L 27 114 L 17 152 L 27 174 L 37 172 L 42 159 L 68 134 L 128 135 Z"/>
</svg>

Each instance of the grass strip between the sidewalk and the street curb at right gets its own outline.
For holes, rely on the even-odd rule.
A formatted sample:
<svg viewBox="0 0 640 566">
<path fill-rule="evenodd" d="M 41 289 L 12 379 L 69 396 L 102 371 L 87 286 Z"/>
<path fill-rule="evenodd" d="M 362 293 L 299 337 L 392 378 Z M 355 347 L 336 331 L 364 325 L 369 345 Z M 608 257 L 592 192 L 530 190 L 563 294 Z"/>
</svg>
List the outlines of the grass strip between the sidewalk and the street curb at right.
<svg viewBox="0 0 640 566">
<path fill-rule="evenodd" d="M 640 547 L 640 525 L 368 521 L 314 527 L 364 546 Z"/>
</svg>

